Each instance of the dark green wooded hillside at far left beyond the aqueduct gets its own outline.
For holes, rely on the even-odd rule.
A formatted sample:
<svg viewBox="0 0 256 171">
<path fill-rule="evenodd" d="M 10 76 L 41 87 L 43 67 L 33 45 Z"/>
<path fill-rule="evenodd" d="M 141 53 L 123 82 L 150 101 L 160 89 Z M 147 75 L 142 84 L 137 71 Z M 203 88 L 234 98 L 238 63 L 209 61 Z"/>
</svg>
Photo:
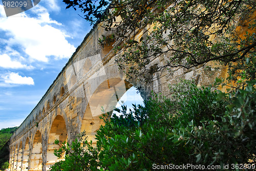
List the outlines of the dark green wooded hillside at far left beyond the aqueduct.
<svg viewBox="0 0 256 171">
<path fill-rule="evenodd" d="M 0 130 L 0 170 L 7 168 L 9 165 L 9 147 L 7 142 L 17 129 L 18 126 Z"/>
</svg>

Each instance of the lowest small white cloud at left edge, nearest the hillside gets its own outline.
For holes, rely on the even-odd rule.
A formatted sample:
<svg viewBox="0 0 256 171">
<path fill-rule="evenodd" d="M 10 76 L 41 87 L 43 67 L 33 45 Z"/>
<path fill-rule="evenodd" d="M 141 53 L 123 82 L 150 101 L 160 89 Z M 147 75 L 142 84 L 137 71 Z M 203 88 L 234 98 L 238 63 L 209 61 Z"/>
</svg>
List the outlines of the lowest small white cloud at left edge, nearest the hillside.
<svg viewBox="0 0 256 171">
<path fill-rule="evenodd" d="M 9 72 L 1 76 L 4 79 L 4 83 L 6 84 L 26 84 L 26 85 L 34 85 L 34 80 L 31 77 L 22 77 L 18 75 L 18 73 Z M 1 84 L 0 84 L 1 85 Z M 2 86 L 4 84 L 2 83 Z"/>
</svg>

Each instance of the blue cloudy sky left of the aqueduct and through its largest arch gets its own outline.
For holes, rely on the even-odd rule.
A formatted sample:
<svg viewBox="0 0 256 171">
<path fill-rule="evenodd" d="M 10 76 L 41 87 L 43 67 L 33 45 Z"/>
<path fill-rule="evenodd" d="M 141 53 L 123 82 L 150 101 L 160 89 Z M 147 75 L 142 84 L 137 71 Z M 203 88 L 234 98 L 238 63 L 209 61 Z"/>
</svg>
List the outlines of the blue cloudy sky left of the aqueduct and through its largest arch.
<svg viewBox="0 0 256 171">
<path fill-rule="evenodd" d="M 78 14 L 62 1 L 41 0 L 7 17 L 1 1 L 0 129 L 25 120 L 91 30 Z M 135 92 L 132 88 L 123 96 L 125 104 Z M 133 99 L 142 103 L 142 98 Z"/>
</svg>

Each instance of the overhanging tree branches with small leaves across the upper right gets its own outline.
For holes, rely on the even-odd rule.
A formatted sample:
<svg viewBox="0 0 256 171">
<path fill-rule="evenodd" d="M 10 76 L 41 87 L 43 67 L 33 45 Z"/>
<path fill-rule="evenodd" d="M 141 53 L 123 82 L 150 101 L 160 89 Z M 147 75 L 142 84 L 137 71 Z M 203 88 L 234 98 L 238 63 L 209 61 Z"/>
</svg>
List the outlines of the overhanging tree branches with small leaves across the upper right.
<svg viewBox="0 0 256 171">
<path fill-rule="evenodd" d="M 100 44 L 118 41 L 119 67 L 130 66 L 130 78 L 147 77 L 164 69 L 190 69 L 209 61 L 243 70 L 243 62 L 254 60 L 254 0 L 63 0 L 67 8 L 79 8 L 91 24 L 105 22 Z M 254 13 L 255 14 L 255 13 Z M 255 15 L 254 15 L 255 16 Z M 151 26 L 153 29 L 148 29 Z M 237 27 L 246 28 L 239 33 Z M 135 39 L 140 32 L 143 36 Z M 166 54 L 163 66 L 147 65 Z M 233 65 L 236 62 L 236 65 Z M 249 67 L 250 68 L 250 67 Z M 248 69 L 248 66 L 247 66 Z M 250 70 L 250 69 L 249 69 Z M 170 70 L 172 71 L 172 70 Z M 255 76 L 255 72 L 248 73 Z M 147 79 L 143 79 L 146 81 Z"/>
</svg>

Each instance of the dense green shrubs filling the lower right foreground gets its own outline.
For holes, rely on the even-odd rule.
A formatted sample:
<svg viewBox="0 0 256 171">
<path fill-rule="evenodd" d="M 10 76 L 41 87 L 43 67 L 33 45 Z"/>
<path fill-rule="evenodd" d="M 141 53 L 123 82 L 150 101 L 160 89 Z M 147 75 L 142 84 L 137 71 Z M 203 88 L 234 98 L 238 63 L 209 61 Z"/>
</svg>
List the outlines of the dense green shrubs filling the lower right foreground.
<svg viewBox="0 0 256 171">
<path fill-rule="evenodd" d="M 172 98 L 154 95 L 127 114 L 122 106 L 119 117 L 103 115 L 96 147 L 86 138 L 63 145 L 56 155 L 66 151 L 66 160 L 52 170 L 73 170 L 74 165 L 79 167 L 75 170 L 151 170 L 153 164 L 248 163 L 255 160 L 255 84 L 245 81 L 236 93 L 223 93 L 182 81 L 170 87 Z"/>
</svg>

